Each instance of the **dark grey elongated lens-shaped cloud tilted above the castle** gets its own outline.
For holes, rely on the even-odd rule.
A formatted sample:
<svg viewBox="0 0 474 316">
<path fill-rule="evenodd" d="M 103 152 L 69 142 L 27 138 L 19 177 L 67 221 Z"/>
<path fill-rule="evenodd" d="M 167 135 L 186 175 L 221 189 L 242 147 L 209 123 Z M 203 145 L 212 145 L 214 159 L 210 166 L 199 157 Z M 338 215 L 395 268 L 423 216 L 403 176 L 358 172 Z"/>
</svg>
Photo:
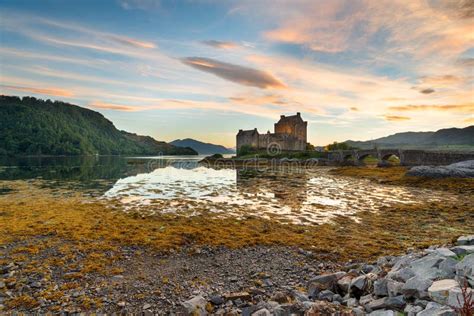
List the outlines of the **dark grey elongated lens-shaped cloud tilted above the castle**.
<svg viewBox="0 0 474 316">
<path fill-rule="evenodd" d="M 271 74 L 249 67 L 221 62 L 211 58 L 187 57 L 181 61 L 193 68 L 216 75 L 222 79 L 229 80 L 245 86 L 253 86 L 261 89 L 285 88 L 285 84 L 273 77 Z"/>
</svg>

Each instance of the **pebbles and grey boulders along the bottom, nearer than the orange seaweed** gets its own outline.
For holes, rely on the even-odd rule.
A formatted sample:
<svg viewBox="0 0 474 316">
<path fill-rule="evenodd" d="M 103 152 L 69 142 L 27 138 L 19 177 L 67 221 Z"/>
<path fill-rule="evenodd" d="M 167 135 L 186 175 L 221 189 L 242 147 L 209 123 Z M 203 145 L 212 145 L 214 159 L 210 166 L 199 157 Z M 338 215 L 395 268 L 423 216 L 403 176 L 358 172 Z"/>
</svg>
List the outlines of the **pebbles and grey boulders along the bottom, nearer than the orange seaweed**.
<svg viewBox="0 0 474 316">
<path fill-rule="evenodd" d="M 70 282 L 64 283 L 67 275 L 61 271 L 52 274 L 56 279 L 46 280 L 26 271 L 21 262 L 2 265 L 0 311 L 458 315 L 463 294 L 473 295 L 474 236 L 460 237 L 455 246 L 433 246 L 370 263 L 337 264 L 288 247 L 193 248 L 166 255 L 123 251 L 116 267 L 120 274 L 86 276 L 71 289 L 65 289 Z M 45 294 L 52 286 L 62 289 L 61 297 Z M 26 300 L 27 294 L 36 300 L 29 307 L 18 299 Z M 96 305 L 79 305 L 85 297 Z"/>
</svg>

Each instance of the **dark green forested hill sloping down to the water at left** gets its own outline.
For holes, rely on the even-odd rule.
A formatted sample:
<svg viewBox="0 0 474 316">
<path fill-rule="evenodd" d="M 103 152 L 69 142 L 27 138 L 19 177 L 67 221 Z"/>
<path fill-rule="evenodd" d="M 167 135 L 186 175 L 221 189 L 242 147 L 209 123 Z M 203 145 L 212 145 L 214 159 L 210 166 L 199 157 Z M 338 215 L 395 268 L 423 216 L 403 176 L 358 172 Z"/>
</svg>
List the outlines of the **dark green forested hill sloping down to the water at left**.
<svg viewBox="0 0 474 316">
<path fill-rule="evenodd" d="M 0 96 L 0 155 L 196 155 L 120 131 L 102 114 L 33 97 Z"/>
</svg>

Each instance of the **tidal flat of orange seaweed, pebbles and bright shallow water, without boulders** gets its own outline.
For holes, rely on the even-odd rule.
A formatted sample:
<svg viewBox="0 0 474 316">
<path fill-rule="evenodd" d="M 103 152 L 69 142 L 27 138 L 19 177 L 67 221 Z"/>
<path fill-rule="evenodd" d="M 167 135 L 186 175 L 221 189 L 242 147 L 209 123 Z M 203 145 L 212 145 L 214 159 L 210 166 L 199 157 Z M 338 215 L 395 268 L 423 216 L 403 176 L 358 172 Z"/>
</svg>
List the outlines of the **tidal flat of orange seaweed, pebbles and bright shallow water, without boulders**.
<svg viewBox="0 0 474 316">
<path fill-rule="evenodd" d="M 75 166 L 68 172 L 76 175 Z M 404 168 L 237 175 L 193 167 L 182 178 L 176 166 L 147 168 L 94 178 L 93 186 L 77 175 L 9 173 L 0 182 L 4 309 L 119 312 L 148 304 L 180 312 L 195 293 L 304 289 L 348 262 L 474 231 L 474 185 L 465 179 L 406 179 Z"/>
</svg>

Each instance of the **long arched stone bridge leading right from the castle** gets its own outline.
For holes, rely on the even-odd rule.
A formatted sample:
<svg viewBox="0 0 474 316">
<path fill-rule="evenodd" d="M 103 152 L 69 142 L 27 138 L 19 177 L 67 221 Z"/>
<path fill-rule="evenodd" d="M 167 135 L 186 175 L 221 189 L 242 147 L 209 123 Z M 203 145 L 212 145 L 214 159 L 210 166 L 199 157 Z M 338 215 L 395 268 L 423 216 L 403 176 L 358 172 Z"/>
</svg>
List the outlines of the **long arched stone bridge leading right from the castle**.
<svg viewBox="0 0 474 316">
<path fill-rule="evenodd" d="M 379 164 L 388 164 L 395 156 L 404 166 L 449 165 L 455 162 L 474 159 L 474 152 L 436 152 L 416 149 L 367 149 L 339 150 L 328 153 L 328 159 L 338 164 L 362 164 L 364 158 L 372 156 Z"/>
</svg>

